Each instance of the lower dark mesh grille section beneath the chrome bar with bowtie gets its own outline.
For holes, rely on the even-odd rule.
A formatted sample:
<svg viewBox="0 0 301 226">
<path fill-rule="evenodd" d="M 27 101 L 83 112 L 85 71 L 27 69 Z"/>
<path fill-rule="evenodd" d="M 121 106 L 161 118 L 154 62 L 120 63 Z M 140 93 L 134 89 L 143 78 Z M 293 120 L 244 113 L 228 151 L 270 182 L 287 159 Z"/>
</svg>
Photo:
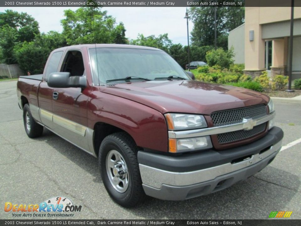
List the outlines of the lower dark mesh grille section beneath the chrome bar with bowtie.
<svg viewBox="0 0 301 226">
<path fill-rule="evenodd" d="M 217 139 L 220 144 L 243 140 L 265 131 L 266 125 L 267 123 L 262 123 L 258 126 L 254 126 L 251 130 L 237 130 L 234 132 L 220 133 L 217 134 Z"/>
</svg>

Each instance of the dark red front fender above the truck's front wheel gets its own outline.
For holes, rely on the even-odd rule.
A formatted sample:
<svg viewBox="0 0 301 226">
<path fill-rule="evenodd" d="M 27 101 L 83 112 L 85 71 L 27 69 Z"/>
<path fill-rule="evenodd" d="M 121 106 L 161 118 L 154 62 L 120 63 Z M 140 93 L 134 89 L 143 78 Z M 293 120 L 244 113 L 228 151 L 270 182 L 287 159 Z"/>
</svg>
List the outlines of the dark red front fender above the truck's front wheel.
<svg viewBox="0 0 301 226">
<path fill-rule="evenodd" d="M 95 90 L 90 93 L 87 118 L 89 128 L 104 122 L 129 133 L 139 147 L 168 151 L 165 118 L 148 106 Z"/>
</svg>

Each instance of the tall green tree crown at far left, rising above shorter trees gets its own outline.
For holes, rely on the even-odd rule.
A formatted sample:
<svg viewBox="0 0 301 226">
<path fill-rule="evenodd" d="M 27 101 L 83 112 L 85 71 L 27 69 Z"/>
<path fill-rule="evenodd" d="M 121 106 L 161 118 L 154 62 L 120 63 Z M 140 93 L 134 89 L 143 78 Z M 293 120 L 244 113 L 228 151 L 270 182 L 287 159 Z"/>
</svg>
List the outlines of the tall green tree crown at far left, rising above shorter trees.
<svg viewBox="0 0 301 226">
<path fill-rule="evenodd" d="M 39 34 L 39 23 L 27 13 L 7 9 L 0 12 L 0 27 L 9 26 L 17 31 L 17 41 L 32 41 Z"/>
</svg>

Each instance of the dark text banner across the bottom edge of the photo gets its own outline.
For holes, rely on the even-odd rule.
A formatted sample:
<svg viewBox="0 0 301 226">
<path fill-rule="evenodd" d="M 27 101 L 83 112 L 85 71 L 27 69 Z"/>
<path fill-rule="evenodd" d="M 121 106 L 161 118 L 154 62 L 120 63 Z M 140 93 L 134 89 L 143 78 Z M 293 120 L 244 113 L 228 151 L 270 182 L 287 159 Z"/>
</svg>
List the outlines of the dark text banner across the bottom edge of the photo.
<svg viewBox="0 0 301 226">
<path fill-rule="evenodd" d="M 285 222 L 283 222 L 285 221 Z M 301 225 L 301 220 L 0 220 L 0 225 Z"/>
</svg>

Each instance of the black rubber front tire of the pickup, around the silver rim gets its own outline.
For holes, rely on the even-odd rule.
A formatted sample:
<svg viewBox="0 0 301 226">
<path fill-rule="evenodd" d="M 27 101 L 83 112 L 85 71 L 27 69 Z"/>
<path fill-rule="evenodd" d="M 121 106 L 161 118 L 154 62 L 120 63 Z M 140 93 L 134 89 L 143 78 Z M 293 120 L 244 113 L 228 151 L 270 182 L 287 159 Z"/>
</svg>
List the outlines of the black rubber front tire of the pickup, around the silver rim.
<svg viewBox="0 0 301 226">
<path fill-rule="evenodd" d="M 106 161 L 108 153 L 112 150 L 121 154 L 127 167 L 128 186 L 123 193 L 114 188 L 107 172 Z M 99 148 L 98 161 L 103 184 L 110 197 L 123 207 L 134 207 L 143 202 L 146 196 L 142 188 L 137 151 L 138 148 L 134 140 L 125 132 L 118 132 L 105 137 Z"/>
</svg>

